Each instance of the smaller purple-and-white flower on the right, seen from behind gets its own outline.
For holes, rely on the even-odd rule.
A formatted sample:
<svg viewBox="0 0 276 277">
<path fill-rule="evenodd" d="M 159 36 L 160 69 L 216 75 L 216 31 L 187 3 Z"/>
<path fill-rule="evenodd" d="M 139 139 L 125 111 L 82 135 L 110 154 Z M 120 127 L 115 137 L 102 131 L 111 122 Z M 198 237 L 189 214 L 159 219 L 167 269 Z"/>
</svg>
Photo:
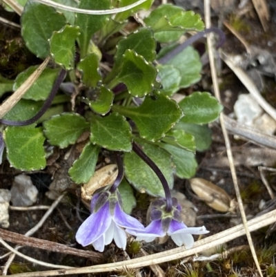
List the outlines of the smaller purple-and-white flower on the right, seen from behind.
<svg viewBox="0 0 276 277">
<path fill-rule="evenodd" d="M 163 237 L 168 234 L 177 246 L 185 245 L 187 249 L 193 247 L 193 235 L 209 233 L 204 226 L 187 227 L 181 220 L 181 207 L 175 198 L 172 198 L 172 211 L 166 211 L 166 200 L 157 200 L 151 204 L 150 224 L 144 231 L 128 230 L 126 231 L 136 240 L 152 242 L 157 237 Z"/>
</svg>

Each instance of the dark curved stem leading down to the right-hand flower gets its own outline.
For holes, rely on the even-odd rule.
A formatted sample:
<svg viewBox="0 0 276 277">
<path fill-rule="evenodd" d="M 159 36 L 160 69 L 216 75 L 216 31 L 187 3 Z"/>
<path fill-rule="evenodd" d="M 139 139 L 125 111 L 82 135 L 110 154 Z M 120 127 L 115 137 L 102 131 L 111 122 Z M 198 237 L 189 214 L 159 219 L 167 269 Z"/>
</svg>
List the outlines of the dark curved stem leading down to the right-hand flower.
<svg viewBox="0 0 276 277">
<path fill-rule="evenodd" d="M 150 157 L 148 157 L 144 153 L 144 151 L 142 151 L 142 149 L 135 142 L 132 142 L 132 150 L 135 151 L 135 153 L 137 155 L 139 155 L 139 157 L 141 157 L 141 159 L 144 160 L 144 162 L 146 162 L 146 164 L 148 164 L 148 166 L 150 166 L 150 168 L 155 172 L 155 174 L 159 178 L 159 180 L 164 188 L 164 192 L 165 192 L 165 196 L 166 196 L 166 202 L 167 202 L 166 211 L 170 212 L 172 210 L 172 196 L 170 195 L 170 187 L 168 187 L 168 182 L 167 182 L 164 174 L 161 172 L 161 170 L 155 164 L 155 162 L 153 162 L 150 159 Z"/>
</svg>

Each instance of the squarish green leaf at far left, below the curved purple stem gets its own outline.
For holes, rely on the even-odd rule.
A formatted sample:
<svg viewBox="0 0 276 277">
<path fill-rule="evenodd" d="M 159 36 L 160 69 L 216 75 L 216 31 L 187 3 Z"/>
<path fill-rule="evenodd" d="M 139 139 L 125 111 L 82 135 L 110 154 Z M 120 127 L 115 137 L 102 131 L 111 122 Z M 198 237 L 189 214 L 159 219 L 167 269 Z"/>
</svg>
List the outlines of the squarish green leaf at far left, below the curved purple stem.
<svg viewBox="0 0 276 277">
<path fill-rule="evenodd" d="M 42 128 L 35 125 L 5 129 L 3 137 L 10 165 L 22 171 L 40 170 L 46 166 Z"/>
</svg>

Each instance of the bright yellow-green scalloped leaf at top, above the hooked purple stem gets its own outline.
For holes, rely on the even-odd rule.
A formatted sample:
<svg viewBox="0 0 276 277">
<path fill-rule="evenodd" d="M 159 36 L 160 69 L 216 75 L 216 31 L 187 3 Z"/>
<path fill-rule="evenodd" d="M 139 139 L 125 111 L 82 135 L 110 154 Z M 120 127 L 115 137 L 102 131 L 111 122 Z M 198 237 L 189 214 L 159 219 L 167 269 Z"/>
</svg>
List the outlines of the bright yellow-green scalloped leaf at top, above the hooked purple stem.
<svg viewBox="0 0 276 277">
<path fill-rule="evenodd" d="M 187 31 L 204 30 L 204 23 L 199 15 L 171 4 L 157 7 L 144 22 L 152 28 L 155 39 L 161 43 L 177 41 Z"/>
</svg>

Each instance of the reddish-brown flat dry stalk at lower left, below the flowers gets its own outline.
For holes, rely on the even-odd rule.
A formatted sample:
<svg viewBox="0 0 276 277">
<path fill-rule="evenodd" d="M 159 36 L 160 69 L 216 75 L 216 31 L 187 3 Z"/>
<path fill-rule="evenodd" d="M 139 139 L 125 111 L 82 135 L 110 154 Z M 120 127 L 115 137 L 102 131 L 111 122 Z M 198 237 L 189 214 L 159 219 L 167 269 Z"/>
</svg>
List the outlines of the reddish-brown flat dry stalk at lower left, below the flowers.
<svg viewBox="0 0 276 277">
<path fill-rule="evenodd" d="M 4 229 L 0 229 L 0 238 L 8 242 L 16 243 L 18 245 L 26 245 L 28 247 L 44 249 L 47 251 L 75 255 L 83 258 L 94 258 L 99 260 L 103 259 L 103 254 L 101 253 L 75 249 L 72 247 L 68 247 L 67 245 L 61 245 L 61 243 L 51 242 L 49 240 L 41 240 L 40 238 L 29 238 L 19 233 L 14 233 Z"/>
</svg>

